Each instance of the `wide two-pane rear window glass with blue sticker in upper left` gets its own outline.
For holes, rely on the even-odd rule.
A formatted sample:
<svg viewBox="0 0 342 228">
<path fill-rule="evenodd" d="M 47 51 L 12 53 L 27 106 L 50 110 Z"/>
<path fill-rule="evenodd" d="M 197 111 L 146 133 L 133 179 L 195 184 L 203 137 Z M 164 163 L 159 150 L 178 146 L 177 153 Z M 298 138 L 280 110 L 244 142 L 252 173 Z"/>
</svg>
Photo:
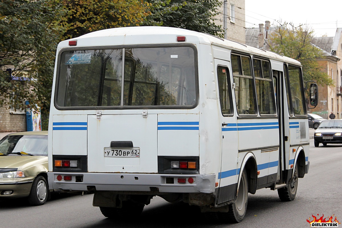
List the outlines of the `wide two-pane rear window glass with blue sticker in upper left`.
<svg viewBox="0 0 342 228">
<path fill-rule="evenodd" d="M 56 104 L 194 106 L 195 72 L 195 52 L 189 46 L 65 51 Z"/>
</svg>

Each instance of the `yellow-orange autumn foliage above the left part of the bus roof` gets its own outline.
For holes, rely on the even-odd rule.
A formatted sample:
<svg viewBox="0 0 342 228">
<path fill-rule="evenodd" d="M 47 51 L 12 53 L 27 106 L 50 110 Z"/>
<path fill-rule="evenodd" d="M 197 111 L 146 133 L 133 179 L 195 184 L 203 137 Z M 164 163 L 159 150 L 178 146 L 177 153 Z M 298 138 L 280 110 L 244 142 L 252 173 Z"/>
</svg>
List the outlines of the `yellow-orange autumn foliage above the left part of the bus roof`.
<svg viewBox="0 0 342 228">
<path fill-rule="evenodd" d="M 144 0 L 56 0 L 66 11 L 60 24 L 64 39 L 117 27 L 138 26 L 151 14 Z"/>
</svg>

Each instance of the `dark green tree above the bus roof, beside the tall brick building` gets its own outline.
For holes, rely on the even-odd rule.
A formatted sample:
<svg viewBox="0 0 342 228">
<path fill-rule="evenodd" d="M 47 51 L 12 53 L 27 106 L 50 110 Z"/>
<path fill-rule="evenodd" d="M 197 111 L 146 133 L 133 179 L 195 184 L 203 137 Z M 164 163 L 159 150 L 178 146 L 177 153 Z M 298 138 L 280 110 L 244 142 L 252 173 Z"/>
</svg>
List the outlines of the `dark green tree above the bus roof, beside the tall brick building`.
<svg viewBox="0 0 342 228">
<path fill-rule="evenodd" d="M 151 15 L 142 25 L 155 25 L 184 28 L 198 32 L 223 36 L 223 29 L 213 22 L 218 12 L 219 0 L 168 0 L 160 2 L 147 0 L 154 6 Z M 161 4 L 160 4 L 161 3 Z"/>
</svg>

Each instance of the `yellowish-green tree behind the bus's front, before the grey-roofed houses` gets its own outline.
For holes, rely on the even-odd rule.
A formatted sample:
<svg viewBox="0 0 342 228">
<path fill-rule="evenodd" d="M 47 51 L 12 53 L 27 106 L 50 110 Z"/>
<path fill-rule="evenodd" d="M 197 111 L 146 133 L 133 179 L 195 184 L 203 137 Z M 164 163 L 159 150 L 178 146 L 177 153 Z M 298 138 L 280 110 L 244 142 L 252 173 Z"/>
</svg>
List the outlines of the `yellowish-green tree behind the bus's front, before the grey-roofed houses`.
<svg viewBox="0 0 342 228">
<path fill-rule="evenodd" d="M 313 34 L 314 30 L 308 27 L 294 27 L 285 23 L 272 30 L 268 44 L 271 51 L 301 62 L 304 81 L 313 80 L 319 85 L 332 85 L 332 80 L 317 63 L 317 59 L 324 58 L 324 55 L 312 45 Z"/>
</svg>

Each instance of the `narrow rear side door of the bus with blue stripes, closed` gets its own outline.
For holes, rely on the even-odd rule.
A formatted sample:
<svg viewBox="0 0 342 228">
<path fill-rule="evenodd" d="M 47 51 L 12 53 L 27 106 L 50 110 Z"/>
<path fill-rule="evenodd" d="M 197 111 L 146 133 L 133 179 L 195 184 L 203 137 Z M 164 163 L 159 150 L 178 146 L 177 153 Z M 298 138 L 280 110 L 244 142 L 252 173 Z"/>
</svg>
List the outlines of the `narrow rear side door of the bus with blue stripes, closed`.
<svg viewBox="0 0 342 228">
<path fill-rule="evenodd" d="M 232 74 L 229 71 L 230 63 L 215 59 L 215 69 L 218 84 L 218 107 L 222 133 L 222 160 L 220 180 L 216 204 L 234 199 L 237 175 L 238 134 L 236 115 L 232 99 Z"/>
</svg>

